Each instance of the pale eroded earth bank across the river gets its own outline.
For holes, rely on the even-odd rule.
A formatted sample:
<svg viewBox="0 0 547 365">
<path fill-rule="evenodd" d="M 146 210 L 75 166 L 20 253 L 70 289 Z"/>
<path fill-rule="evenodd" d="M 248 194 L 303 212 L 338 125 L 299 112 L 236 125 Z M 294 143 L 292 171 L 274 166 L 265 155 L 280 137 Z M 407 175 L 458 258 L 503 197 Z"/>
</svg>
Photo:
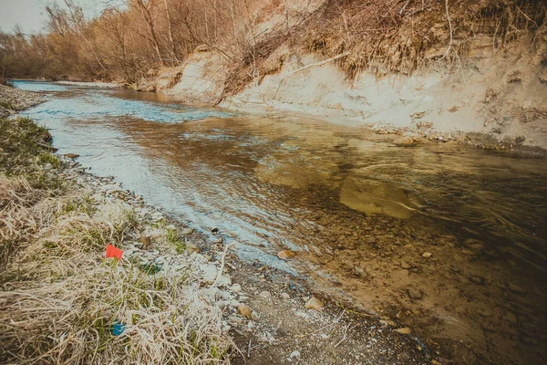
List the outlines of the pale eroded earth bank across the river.
<svg viewBox="0 0 547 365">
<path fill-rule="evenodd" d="M 305 11 L 294 5 L 289 12 L 308 15 L 304 25 L 292 18 L 287 25 L 282 5 L 263 14 L 253 27 L 258 35 L 250 51 L 254 56 L 245 58 L 241 65 L 239 60 L 211 47 L 198 47 L 180 67 L 160 68 L 155 77 L 143 80 L 136 88 L 231 110 L 314 115 L 379 133 L 394 133 L 401 142 L 425 137 L 464 141 L 494 150 L 547 148 L 547 36 L 544 24 L 532 25 L 530 17 L 521 15 L 522 5 L 516 5 L 515 11 L 530 27 L 515 23 L 512 27 L 519 30 L 508 33 L 516 32 L 518 36 L 504 33 L 503 40 L 500 25 L 511 25 L 504 23 L 503 14 L 497 15 L 505 10 L 490 4 L 495 2 L 483 2 L 484 8 L 469 2 L 470 17 L 475 14 L 472 12 L 485 16 L 483 23 L 477 23 L 481 26 L 463 20 L 466 12 L 461 5 L 451 5 L 447 11 L 452 20 L 459 19 L 459 29 L 454 30 L 458 38 L 455 34 L 454 39 L 448 37 L 443 6 L 435 11 L 414 9 L 420 17 L 411 23 L 404 17 L 393 38 L 378 36 L 377 41 L 387 51 L 371 54 L 366 63 L 362 58 L 370 45 L 365 38 L 352 38 L 356 24 L 346 25 L 347 37 L 354 39 L 348 41 L 314 23 L 314 16 L 320 12 L 340 17 L 333 15 L 326 3 L 312 2 Z M 347 11 L 353 9 L 350 3 L 344 5 Z M 332 20 L 333 26 L 342 22 L 338 17 Z M 496 21 L 498 28 L 487 26 Z M 279 34 L 287 26 L 289 33 L 294 33 L 293 40 L 287 36 L 289 40 L 280 41 Z M 312 35 L 322 32 L 323 43 L 316 48 L 296 46 L 306 39 L 311 42 L 315 39 Z M 417 35 L 412 32 L 421 34 L 424 42 L 416 46 L 414 53 L 410 52 L 412 47 L 397 43 L 399 38 L 407 39 L 405 36 L 408 42 L 415 42 Z M 361 33 L 356 31 L 357 35 Z M 428 38 L 435 35 L 435 41 Z M 349 43 L 354 48 L 333 53 L 329 42 L 341 43 L 340 47 Z M 365 42 L 365 49 L 355 48 L 359 42 Z M 403 53 L 405 49 L 408 54 Z M 396 66 L 391 63 L 393 57 L 397 58 Z M 365 62 L 366 67 L 352 68 L 358 62 Z M 348 69 L 352 70 L 349 75 Z"/>
</svg>

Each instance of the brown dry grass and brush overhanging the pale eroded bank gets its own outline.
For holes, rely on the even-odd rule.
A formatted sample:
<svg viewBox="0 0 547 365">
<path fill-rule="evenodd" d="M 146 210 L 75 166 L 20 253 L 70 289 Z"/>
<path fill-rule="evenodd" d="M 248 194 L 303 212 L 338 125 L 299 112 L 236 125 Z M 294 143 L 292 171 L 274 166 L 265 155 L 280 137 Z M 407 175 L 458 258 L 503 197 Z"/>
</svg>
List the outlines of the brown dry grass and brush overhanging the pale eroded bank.
<svg viewBox="0 0 547 365">
<path fill-rule="evenodd" d="M 248 41 L 232 63 L 222 98 L 275 73 L 284 59 L 276 51 L 339 57 L 336 64 L 353 81 L 362 71 L 377 76 L 410 75 L 425 68 L 461 68 L 478 35 L 500 48 L 547 33 L 542 0 L 325 0 L 290 29 Z M 295 16 L 298 17 L 298 16 Z M 237 58 L 237 57 L 236 57 Z"/>
</svg>

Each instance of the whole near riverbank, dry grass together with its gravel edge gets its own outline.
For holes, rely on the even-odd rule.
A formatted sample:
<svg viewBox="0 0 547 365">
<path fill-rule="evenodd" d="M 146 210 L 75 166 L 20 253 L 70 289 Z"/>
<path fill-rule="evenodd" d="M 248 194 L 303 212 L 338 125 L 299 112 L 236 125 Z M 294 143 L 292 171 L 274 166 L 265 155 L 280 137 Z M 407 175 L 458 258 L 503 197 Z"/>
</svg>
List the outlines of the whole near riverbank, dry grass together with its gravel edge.
<svg viewBox="0 0 547 365">
<path fill-rule="evenodd" d="M 18 104 L 39 99 L 14 92 Z M 86 172 L 77 155 L 53 154 L 34 122 L 2 120 L 1 128 L 2 362 L 439 357 L 411 329 L 314 299 L 298 277 L 237 259 L 222 232 L 211 241 Z M 124 259 L 105 260 L 106 244 L 124 249 Z"/>
</svg>

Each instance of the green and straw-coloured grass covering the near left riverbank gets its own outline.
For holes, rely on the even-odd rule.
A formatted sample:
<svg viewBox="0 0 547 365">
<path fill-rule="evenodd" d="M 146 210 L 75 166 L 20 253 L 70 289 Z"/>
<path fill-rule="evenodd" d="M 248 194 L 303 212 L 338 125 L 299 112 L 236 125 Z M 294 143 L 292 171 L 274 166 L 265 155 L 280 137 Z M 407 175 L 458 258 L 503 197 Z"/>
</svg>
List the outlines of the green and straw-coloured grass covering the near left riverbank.
<svg viewBox="0 0 547 365">
<path fill-rule="evenodd" d="M 60 176 L 47 135 L 0 120 L 0 363 L 227 362 L 221 310 L 190 273 L 104 258 L 142 223 L 129 204 L 98 204 Z"/>
</svg>

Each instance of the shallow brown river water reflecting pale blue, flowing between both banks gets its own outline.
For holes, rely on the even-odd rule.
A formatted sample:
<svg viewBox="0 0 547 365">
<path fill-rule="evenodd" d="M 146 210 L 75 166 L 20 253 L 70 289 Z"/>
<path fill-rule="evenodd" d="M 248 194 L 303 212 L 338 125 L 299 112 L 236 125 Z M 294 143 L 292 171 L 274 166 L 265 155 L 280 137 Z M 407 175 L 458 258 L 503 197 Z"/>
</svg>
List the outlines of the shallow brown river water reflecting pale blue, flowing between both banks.
<svg viewBox="0 0 547 365">
<path fill-rule="evenodd" d="M 363 129 L 17 82 L 60 153 L 220 228 L 247 260 L 415 330 L 456 362 L 541 363 L 547 163 Z M 277 259 L 281 249 L 296 259 Z M 424 257 L 430 253 L 430 257 Z M 409 293 L 410 292 L 410 293 Z"/>
</svg>

